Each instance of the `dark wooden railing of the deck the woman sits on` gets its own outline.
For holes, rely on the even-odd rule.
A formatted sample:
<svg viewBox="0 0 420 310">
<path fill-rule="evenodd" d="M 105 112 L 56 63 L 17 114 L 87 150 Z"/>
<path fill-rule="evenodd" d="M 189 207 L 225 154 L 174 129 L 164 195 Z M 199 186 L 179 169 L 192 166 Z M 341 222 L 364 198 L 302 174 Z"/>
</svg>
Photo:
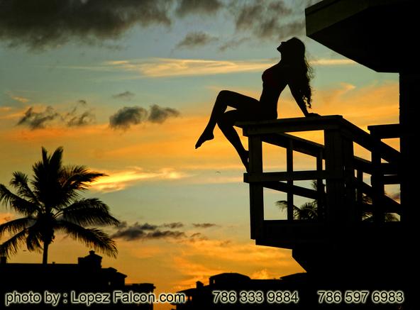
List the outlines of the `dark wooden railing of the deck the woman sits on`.
<svg viewBox="0 0 420 310">
<path fill-rule="evenodd" d="M 385 184 L 399 183 L 399 151 L 381 140 L 390 138 L 390 133 L 392 138 L 397 136 L 398 125 L 370 126 L 371 134 L 342 116 L 284 118 L 236 125 L 248 137 L 250 151 L 244 182 L 250 184 L 251 238 L 264 238 L 265 228 L 273 224 L 264 218 L 264 188 L 287 193 L 287 220 L 275 221 L 284 227 L 296 222 L 295 195 L 316 199 L 318 220 L 323 225 L 353 225 L 362 220 L 363 212 L 372 212 L 377 223 L 385 220 L 386 213 L 399 214 L 399 203 L 385 195 Z M 324 145 L 290 134 L 297 131 L 322 131 Z M 286 149 L 286 171 L 263 171 L 262 143 Z M 371 160 L 354 155 L 355 143 L 370 152 Z M 315 169 L 295 171 L 294 152 L 315 157 Z M 365 174 L 371 176 L 371 185 L 364 182 Z M 294 184 L 302 180 L 316 180 L 316 189 Z M 372 197 L 372 204 L 366 204 L 366 196 Z"/>
</svg>

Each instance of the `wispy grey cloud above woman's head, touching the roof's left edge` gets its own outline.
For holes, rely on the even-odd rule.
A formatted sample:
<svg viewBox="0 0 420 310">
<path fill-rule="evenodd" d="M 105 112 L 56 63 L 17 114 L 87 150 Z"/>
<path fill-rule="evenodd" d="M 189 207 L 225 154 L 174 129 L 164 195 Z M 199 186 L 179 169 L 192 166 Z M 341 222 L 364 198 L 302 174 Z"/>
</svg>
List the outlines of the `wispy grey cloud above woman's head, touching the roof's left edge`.
<svg viewBox="0 0 420 310">
<path fill-rule="evenodd" d="M 255 1 L 236 4 L 231 13 L 237 31 L 250 32 L 258 39 L 282 40 L 304 34 L 303 12 L 309 2 L 299 1 L 299 8 L 292 9 L 284 1 Z"/>
</svg>

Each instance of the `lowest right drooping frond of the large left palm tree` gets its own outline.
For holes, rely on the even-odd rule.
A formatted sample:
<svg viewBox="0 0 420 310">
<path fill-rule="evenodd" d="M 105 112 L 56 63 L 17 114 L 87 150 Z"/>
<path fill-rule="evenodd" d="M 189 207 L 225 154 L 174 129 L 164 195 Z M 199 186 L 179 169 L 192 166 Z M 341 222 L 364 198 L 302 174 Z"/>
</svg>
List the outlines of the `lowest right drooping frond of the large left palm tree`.
<svg viewBox="0 0 420 310">
<path fill-rule="evenodd" d="M 116 243 L 108 234 L 100 229 L 83 228 L 82 226 L 67 221 L 57 221 L 57 226 L 55 228 L 64 231 L 74 240 L 80 241 L 88 247 L 94 248 L 94 250 L 98 250 L 99 252 L 116 258 L 118 253 Z"/>
</svg>

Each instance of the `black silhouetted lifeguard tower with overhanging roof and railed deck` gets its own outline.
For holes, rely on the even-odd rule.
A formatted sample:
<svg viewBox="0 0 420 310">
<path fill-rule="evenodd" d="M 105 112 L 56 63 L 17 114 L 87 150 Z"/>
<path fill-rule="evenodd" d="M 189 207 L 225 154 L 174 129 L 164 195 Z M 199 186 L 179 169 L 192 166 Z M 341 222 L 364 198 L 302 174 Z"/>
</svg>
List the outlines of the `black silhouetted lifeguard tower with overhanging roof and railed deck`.
<svg viewBox="0 0 420 310">
<path fill-rule="evenodd" d="M 310 38 L 377 72 L 399 73 L 399 123 L 372 124 L 369 132 L 343 116 L 239 124 L 250 150 L 244 182 L 250 187 L 251 238 L 257 245 L 292 249 L 308 273 L 359 279 L 355 283 L 360 284 L 395 284 L 399 289 L 414 269 L 414 231 L 420 220 L 414 146 L 420 74 L 413 41 L 419 9 L 418 1 L 324 0 L 305 12 Z M 322 131 L 324 143 L 299 138 L 294 135 L 298 131 Z M 399 138 L 399 150 L 385 143 L 386 138 Z M 285 171 L 265 172 L 264 143 L 286 150 Z M 355 156 L 355 145 L 370 158 Z M 295 171 L 296 153 L 314 157 L 314 169 Z M 317 188 L 297 185 L 302 180 L 316 180 Z M 387 184 L 400 184 L 400 201 L 385 194 Z M 265 219 L 265 188 L 287 194 L 287 219 Z M 295 196 L 316 199 L 316 220 L 294 218 Z M 365 212 L 372 213 L 372 221 L 363 221 Z M 388 213 L 400 220 L 385 221 Z"/>
</svg>

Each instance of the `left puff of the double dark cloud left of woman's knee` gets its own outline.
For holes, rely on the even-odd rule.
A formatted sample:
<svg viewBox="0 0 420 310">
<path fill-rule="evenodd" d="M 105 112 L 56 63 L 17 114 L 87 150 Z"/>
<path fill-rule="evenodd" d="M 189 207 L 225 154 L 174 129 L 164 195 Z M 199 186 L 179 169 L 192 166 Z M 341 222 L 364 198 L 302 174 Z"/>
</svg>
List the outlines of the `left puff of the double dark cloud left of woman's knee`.
<svg viewBox="0 0 420 310">
<path fill-rule="evenodd" d="M 124 106 L 109 117 L 109 126 L 115 129 L 127 130 L 131 125 L 145 121 L 148 111 L 140 106 Z"/>
</svg>

